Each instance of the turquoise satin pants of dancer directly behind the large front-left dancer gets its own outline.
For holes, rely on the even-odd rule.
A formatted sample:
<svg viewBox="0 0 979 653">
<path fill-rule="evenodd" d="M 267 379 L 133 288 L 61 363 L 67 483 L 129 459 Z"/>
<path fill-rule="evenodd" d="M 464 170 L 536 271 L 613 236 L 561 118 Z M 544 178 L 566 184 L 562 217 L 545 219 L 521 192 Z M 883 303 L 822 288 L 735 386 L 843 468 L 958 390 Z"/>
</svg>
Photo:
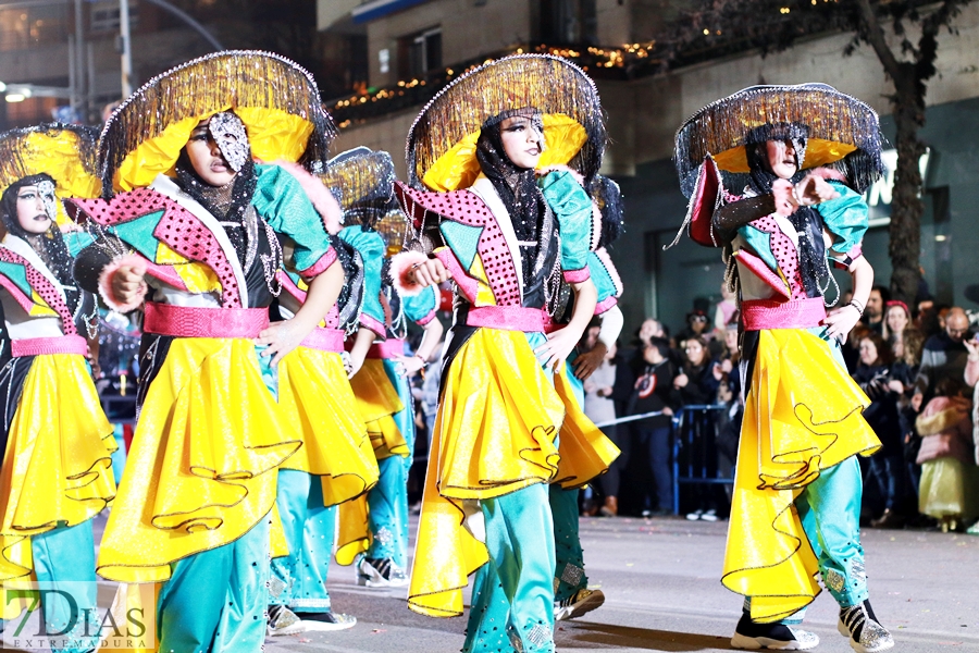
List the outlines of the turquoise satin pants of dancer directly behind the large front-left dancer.
<svg viewBox="0 0 979 653">
<path fill-rule="evenodd" d="M 336 538 L 336 507 L 323 506 L 320 478 L 283 469 L 275 498 L 289 555 L 272 559 L 270 604 L 295 613 L 330 612 L 326 574 Z"/>
</svg>

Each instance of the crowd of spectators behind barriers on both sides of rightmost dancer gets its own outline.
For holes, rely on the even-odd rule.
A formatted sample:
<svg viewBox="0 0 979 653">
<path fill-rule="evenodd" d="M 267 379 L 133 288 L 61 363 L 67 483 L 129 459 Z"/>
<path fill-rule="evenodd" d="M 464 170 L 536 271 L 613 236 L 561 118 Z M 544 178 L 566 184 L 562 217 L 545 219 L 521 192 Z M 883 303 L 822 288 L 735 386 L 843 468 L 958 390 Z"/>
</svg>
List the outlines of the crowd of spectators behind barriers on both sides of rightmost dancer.
<svg viewBox="0 0 979 653">
<path fill-rule="evenodd" d="M 622 455 L 585 514 L 727 516 L 743 406 L 738 340 L 736 306 L 724 296 L 712 316 L 692 310 L 676 335 L 647 319 L 606 354 L 585 382 L 585 412 L 618 420 L 603 431 Z M 882 445 L 860 458 L 866 523 L 969 528 L 979 518 L 979 340 L 969 316 L 931 301 L 912 310 L 875 287 L 842 349 Z"/>
</svg>

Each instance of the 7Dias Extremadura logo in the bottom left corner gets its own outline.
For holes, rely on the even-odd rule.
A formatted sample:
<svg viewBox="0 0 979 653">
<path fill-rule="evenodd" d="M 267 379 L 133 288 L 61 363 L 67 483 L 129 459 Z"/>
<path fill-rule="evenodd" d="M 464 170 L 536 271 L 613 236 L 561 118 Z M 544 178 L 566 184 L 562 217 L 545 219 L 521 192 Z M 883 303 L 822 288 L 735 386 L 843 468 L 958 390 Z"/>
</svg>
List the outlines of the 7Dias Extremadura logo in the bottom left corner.
<svg viewBox="0 0 979 653">
<path fill-rule="evenodd" d="M 156 587 L 120 586 L 109 607 L 104 599 L 95 582 L 3 583 L 0 651 L 156 650 Z"/>
</svg>

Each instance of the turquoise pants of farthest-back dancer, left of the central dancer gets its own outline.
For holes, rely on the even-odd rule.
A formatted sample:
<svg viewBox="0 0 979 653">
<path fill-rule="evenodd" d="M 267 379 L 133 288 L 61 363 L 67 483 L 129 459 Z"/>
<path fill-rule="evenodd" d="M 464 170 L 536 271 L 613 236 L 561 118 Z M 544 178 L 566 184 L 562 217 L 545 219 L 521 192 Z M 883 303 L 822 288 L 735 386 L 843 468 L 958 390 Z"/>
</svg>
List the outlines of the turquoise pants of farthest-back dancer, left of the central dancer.
<svg viewBox="0 0 979 653">
<path fill-rule="evenodd" d="M 377 461 L 381 476 L 368 492 L 370 528 L 373 542 L 368 557 L 391 558 L 401 569 L 408 568 L 408 470 L 414 456 L 414 399 L 408 379 L 399 377 L 393 360 L 384 360 L 384 371 L 398 392 L 405 409 L 394 420 L 408 443 L 409 454 Z"/>
</svg>

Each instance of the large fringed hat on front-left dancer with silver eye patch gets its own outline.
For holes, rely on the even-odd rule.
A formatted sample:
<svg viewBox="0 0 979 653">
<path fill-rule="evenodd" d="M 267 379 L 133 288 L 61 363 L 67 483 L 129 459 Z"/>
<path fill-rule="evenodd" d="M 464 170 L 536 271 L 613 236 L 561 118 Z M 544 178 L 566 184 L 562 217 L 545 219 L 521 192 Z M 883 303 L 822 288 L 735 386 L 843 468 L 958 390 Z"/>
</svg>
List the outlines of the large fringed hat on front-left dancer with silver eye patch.
<svg viewBox="0 0 979 653">
<path fill-rule="evenodd" d="M 241 119 L 263 161 L 322 160 L 336 136 L 299 64 L 257 50 L 215 52 L 157 75 L 113 112 L 99 144 L 106 189 L 148 186 L 171 172 L 194 127 L 220 111 Z"/>
</svg>

